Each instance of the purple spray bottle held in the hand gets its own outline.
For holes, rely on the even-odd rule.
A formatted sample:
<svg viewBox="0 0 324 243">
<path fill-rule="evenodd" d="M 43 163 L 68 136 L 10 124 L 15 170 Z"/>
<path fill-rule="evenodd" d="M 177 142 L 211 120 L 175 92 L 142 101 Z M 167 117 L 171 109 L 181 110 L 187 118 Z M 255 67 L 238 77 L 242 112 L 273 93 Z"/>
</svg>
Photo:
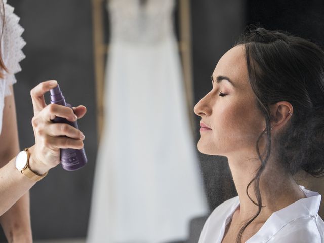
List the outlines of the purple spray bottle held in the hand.
<svg viewBox="0 0 324 243">
<path fill-rule="evenodd" d="M 58 104 L 58 105 L 63 105 L 70 107 L 72 109 L 72 106 L 70 104 L 66 104 L 64 96 L 60 90 L 59 85 L 57 85 L 55 88 L 50 90 L 51 93 L 51 103 L 52 104 Z M 54 120 L 52 120 L 54 123 L 67 123 L 74 128 L 78 129 L 77 122 L 71 122 L 68 121 L 65 118 L 62 117 L 56 117 Z M 61 159 L 61 164 L 64 170 L 67 171 L 74 171 L 77 170 L 83 166 L 86 165 L 88 159 L 86 156 L 85 149 L 61 149 L 60 153 L 60 159 Z"/>
</svg>

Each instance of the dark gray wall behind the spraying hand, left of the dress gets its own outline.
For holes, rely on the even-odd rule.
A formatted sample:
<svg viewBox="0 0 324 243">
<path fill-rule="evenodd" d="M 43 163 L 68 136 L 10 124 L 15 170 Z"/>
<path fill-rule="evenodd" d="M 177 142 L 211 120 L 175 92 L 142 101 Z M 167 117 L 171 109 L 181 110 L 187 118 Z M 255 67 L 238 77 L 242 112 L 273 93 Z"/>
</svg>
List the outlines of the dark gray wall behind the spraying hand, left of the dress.
<svg viewBox="0 0 324 243">
<path fill-rule="evenodd" d="M 58 80 L 66 101 L 85 105 L 78 121 L 84 132 L 88 165 L 74 172 L 59 165 L 30 190 L 34 239 L 86 235 L 97 150 L 90 0 L 11 0 L 25 28 L 26 59 L 14 85 L 20 147 L 34 144 L 30 89 Z M 48 96 L 47 96 L 48 101 Z"/>
</svg>

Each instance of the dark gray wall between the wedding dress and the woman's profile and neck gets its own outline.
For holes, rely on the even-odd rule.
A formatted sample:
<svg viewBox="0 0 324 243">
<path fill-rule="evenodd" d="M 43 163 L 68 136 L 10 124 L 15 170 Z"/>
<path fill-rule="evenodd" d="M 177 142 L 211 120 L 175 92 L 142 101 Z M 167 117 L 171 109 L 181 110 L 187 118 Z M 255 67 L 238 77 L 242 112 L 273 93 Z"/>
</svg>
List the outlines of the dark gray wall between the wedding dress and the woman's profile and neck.
<svg viewBox="0 0 324 243">
<path fill-rule="evenodd" d="M 195 103 L 212 88 L 210 76 L 221 56 L 235 43 L 245 24 L 241 0 L 191 1 Z M 196 142 L 200 138 L 196 116 Z M 199 153 L 210 208 L 236 196 L 227 158 Z"/>
</svg>

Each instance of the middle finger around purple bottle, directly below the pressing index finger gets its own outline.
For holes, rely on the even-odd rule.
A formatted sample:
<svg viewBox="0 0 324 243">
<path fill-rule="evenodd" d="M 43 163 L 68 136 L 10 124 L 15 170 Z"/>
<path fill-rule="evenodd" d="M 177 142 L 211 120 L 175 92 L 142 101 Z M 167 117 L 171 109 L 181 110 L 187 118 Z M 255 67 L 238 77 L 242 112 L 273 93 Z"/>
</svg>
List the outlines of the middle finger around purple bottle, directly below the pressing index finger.
<svg viewBox="0 0 324 243">
<path fill-rule="evenodd" d="M 57 104 L 49 104 L 46 106 L 41 115 L 45 121 L 51 121 L 56 117 L 62 117 L 68 121 L 77 120 L 77 116 L 74 114 L 71 108 Z"/>
</svg>

